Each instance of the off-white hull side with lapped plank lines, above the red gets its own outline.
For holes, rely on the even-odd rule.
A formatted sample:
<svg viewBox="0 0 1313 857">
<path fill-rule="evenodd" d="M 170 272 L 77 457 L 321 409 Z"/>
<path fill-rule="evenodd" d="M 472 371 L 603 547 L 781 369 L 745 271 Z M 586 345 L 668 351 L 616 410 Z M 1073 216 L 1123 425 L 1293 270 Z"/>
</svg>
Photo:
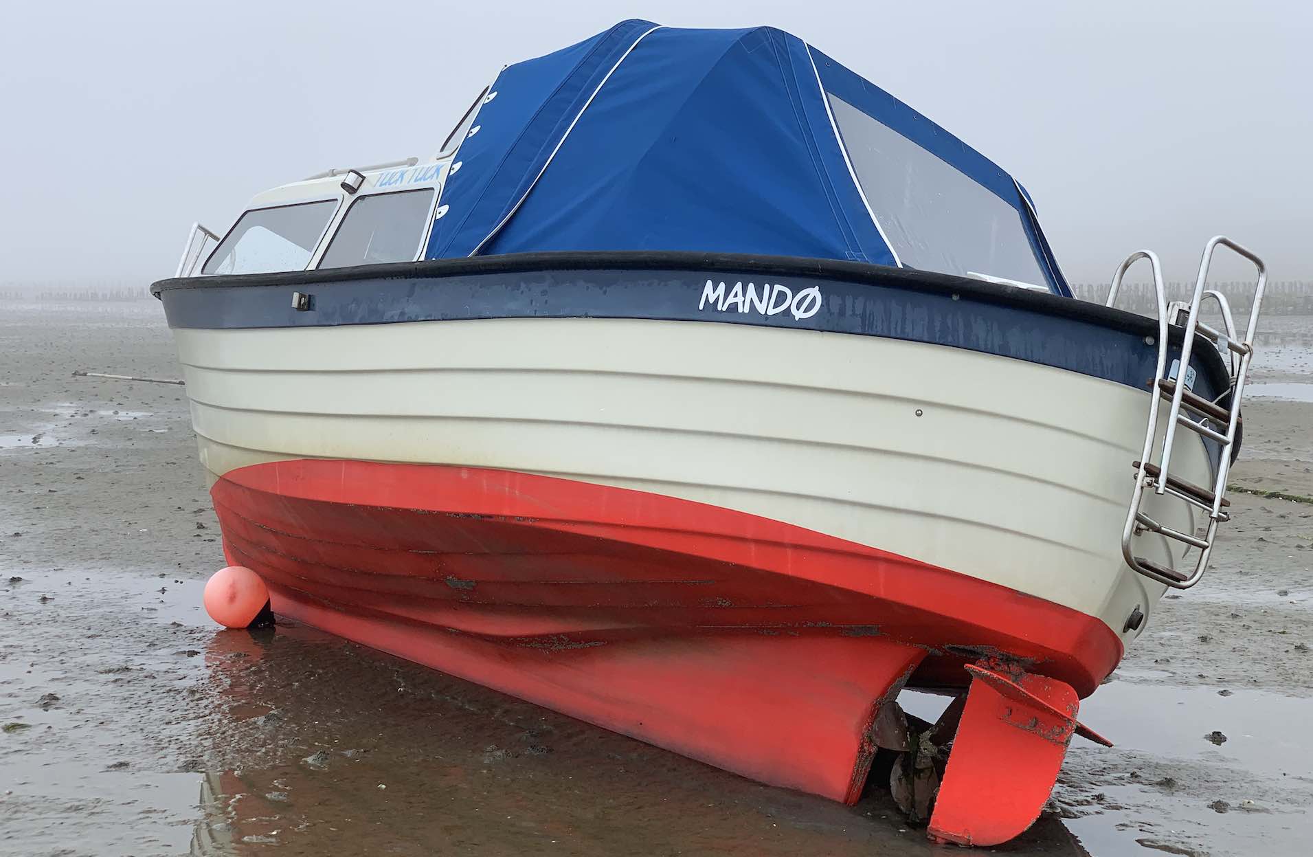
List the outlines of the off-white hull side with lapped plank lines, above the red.
<svg viewBox="0 0 1313 857">
<path fill-rule="evenodd" d="M 1124 385 L 922 343 L 695 322 L 175 336 L 210 479 L 356 458 L 637 488 L 998 583 L 1123 639 L 1132 609 L 1152 616 L 1163 592 L 1121 559 L 1149 404 Z M 1208 484 L 1203 445 L 1186 444 L 1174 471 Z M 1183 504 L 1155 500 L 1153 517 L 1194 532 Z M 1140 538 L 1140 555 L 1175 564 L 1165 539 Z"/>
</svg>

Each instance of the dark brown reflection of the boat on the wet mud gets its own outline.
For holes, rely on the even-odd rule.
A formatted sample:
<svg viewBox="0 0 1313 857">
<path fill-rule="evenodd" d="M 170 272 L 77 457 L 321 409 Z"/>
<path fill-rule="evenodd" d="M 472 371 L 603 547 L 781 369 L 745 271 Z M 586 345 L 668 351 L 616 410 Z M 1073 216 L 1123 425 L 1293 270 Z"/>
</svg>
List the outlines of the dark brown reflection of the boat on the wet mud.
<svg viewBox="0 0 1313 857">
<path fill-rule="evenodd" d="M 771 789 L 311 629 L 214 635 L 194 854 L 940 853 L 886 793 Z M 1045 816 L 1007 850 L 1085 854 Z"/>
</svg>

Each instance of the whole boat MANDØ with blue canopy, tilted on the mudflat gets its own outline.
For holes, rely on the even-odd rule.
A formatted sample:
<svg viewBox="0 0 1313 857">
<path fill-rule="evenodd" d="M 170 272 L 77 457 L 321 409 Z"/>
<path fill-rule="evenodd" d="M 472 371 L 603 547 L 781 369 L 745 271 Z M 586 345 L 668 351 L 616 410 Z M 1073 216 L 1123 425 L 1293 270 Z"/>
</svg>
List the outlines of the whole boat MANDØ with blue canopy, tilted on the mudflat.
<svg viewBox="0 0 1313 857">
<path fill-rule="evenodd" d="M 1075 299 L 1010 173 L 815 47 L 624 21 L 152 291 L 274 614 L 835 801 L 892 753 L 990 845 L 1207 570 L 1264 280 L 1218 236 L 1188 302 L 1149 251 Z"/>
</svg>

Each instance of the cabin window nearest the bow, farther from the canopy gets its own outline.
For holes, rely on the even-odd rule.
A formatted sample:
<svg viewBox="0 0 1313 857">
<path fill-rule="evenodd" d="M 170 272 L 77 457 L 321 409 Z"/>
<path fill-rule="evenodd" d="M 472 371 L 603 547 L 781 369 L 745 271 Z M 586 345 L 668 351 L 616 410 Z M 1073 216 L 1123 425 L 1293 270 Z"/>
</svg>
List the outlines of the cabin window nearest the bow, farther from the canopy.
<svg viewBox="0 0 1313 857">
<path fill-rule="evenodd" d="M 336 209 L 336 199 L 252 209 L 214 248 L 201 273 L 303 270 Z"/>
</svg>

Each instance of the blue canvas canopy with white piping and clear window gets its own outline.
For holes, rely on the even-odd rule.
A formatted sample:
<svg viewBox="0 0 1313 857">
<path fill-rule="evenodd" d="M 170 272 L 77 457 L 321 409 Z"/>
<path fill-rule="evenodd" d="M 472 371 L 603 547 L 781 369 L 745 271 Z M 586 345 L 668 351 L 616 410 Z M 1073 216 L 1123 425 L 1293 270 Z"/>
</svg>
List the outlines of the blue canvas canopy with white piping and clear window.
<svg viewBox="0 0 1313 857">
<path fill-rule="evenodd" d="M 664 249 L 847 259 L 1070 294 L 1002 168 L 773 28 L 624 21 L 508 66 L 428 259 Z"/>
</svg>

